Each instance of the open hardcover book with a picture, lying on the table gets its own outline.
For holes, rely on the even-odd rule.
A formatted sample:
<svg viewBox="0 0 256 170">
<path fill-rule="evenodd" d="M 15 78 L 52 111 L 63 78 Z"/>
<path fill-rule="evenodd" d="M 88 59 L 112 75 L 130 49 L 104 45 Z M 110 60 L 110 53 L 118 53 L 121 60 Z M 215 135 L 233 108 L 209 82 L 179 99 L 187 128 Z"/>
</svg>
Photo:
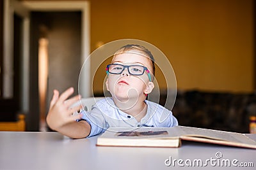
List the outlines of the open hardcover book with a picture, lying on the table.
<svg viewBox="0 0 256 170">
<path fill-rule="evenodd" d="M 256 149 L 256 141 L 245 134 L 185 126 L 109 127 L 97 146 L 179 147 L 181 140 Z"/>
</svg>

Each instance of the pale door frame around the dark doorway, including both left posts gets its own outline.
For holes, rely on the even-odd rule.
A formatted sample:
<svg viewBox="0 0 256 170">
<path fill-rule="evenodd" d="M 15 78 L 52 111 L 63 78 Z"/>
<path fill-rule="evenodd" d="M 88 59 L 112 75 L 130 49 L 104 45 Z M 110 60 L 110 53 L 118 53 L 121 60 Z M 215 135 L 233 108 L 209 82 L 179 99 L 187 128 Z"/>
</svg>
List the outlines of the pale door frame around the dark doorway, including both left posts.
<svg viewBox="0 0 256 170">
<path fill-rule="evenodd" d="M 30 11 L 81 11 L 81 67 L 84 61 L 90 62 L 90 2 L 89 1 L 17 1 L 4 0 L 4 37 L 3 37 L 3 60 L 4 60 L 4 85 L 5 98 L 13 96 L 12 67 L 13 63 L 13 13 L 23 18 L 22 21 L 22 104 L 21 109 L 25 113 L 29 110 L 29 24 Z M 88 64 L 86 64 L 88 66 Z M 83 85 L 79 93 L 83 97 L 92 96 L 90 83 L 90 66 L 83 68 L 84 77 L 79 78 Z"/>
</svg>

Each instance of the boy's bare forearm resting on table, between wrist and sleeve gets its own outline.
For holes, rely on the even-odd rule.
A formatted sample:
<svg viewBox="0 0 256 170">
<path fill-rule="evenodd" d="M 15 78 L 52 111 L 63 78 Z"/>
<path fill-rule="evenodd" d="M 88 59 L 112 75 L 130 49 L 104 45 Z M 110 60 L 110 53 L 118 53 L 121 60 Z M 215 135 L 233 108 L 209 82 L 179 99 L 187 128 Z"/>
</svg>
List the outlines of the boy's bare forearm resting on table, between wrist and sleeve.
<svg viewBox="0 0 256 170">
<path fill-rule="evenodd" d="M 91 125 L 85 120 L 80 122 L 70 122 L 59 129 L 56 129 L 56 131 L 74 139 L 86 138 L 90 134 Z"/>
</svg>

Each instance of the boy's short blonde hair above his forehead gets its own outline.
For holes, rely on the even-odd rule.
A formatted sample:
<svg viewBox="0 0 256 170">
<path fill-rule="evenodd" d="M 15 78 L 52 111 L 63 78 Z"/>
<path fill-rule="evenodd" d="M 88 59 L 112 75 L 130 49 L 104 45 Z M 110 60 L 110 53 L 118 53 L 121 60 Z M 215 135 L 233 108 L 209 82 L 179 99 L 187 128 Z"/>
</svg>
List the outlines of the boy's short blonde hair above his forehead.
<svg viewBox="0 0 256 170">
<path fill-rule="evenodd" d="M 121 48 L 119 48 L 119 50 L 117 50 L 115 52 L 115 54 L 113 55 L 113 58 L 116 55 L 120 54 L 120 53 L 129 52 L 129 51 L 132 51 L 132 50 L 142 52 L 143 55 L 145 55 L 145 57 L 147 57 L 151 61 L 150 63 L 151 63 L 151 66 L 152 66 L 152 74 L 155 75 L 155 59 L 154 59 L 152 53 L 147 48 L 145 48 L 144 46 L 141 46 L 141 45 L 125 45 L 125 46 L 122 46 Z"/>
</svg>

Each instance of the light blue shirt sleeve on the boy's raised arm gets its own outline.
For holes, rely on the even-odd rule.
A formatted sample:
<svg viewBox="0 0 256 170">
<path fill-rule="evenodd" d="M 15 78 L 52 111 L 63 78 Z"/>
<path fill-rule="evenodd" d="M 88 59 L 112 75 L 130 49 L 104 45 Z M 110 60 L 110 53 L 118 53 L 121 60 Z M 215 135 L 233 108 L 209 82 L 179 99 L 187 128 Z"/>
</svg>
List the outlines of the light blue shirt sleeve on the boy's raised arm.
<svg viewBox="0 0 256 170">
<path fill-rule="evenodd" d="M 95 136 L 97 134 L 105 132 L 106 129 L 108 129 L 108 123 L 106 122 L 104 116 L 97 107 L 97 104 L 93 106 L 91 112 L 82 111 L 81 114 L 83 114 L 82 119 L 86 120 L 86 122 L 91 125 L 91 132 L 88 137 Z"/>
</svg>

